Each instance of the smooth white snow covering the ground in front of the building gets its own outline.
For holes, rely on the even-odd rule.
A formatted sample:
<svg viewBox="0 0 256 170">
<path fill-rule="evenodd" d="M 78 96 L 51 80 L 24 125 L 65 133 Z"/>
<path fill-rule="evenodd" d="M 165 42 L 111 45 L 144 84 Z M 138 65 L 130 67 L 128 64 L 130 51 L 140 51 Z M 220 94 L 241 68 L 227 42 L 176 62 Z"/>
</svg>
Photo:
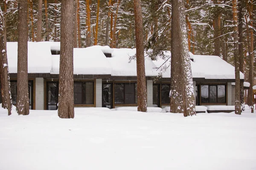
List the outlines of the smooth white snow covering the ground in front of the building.
<svg viewBox="0 0 256 170">
<path fill-rule="evenodd" d="M 256 111 L 255 111 L 256 112 Z M 0 170 L 255 170 L 256 113 L 0 109 Z"/>
</svg>

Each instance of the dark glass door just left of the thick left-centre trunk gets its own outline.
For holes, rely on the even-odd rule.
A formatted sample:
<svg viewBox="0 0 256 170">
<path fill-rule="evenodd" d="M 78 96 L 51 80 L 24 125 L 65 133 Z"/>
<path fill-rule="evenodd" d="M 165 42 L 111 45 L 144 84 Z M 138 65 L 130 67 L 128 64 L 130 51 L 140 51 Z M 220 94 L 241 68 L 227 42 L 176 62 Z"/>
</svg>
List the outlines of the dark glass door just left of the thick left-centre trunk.
<svg viewBox="0 0 256 170">
<path fill-rule="evenodd" d="M 47 82 L 46 103 L 47 110 L 58 109 L 58 82 Z"/>
</svg>

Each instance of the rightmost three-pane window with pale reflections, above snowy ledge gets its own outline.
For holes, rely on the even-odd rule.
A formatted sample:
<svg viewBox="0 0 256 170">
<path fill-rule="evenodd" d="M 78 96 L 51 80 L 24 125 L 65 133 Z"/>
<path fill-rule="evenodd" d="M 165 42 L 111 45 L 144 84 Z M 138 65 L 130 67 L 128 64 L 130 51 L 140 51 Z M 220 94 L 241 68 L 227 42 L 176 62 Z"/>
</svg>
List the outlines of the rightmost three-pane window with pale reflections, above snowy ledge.
<svg viewBox="0 0 256 170">
<path fill-rule="evenodd" d="M 201 85 L 201 103 L 226 103 L 226 85 Z"/>
</svg>

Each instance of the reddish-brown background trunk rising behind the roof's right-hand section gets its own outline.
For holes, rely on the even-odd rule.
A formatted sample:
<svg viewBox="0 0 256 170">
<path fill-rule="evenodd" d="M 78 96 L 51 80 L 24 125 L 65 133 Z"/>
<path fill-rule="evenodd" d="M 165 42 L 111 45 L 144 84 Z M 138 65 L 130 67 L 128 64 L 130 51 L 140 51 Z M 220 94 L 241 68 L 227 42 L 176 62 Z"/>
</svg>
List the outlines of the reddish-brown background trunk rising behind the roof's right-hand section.
<svg viewBox="0 0 256 170">
<path fill-rule="evenodd" d="M 213 3 L 217 4 L 218 0 L 213 0 Z M 219 13 L 216 13 L 213 19 L 213 27 L 214 27 L 214 55 L 220 56 L 220 48 L 221 48 L 221 41 L 220 41 L 220 28 L 219 28 Z"/>
</svg>

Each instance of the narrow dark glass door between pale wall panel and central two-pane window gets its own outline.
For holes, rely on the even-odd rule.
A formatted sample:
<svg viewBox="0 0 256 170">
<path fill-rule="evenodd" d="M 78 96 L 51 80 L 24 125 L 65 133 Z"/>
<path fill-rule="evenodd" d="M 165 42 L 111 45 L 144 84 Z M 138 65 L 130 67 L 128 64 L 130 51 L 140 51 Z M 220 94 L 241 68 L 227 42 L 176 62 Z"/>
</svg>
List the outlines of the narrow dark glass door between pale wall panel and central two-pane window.
<svg viewBox="0 0 256 170">
<path fill-rule="evenodd" d="M 113 108 L 113 83 L 102 83 L 102 107 Z"/>
</svg>

